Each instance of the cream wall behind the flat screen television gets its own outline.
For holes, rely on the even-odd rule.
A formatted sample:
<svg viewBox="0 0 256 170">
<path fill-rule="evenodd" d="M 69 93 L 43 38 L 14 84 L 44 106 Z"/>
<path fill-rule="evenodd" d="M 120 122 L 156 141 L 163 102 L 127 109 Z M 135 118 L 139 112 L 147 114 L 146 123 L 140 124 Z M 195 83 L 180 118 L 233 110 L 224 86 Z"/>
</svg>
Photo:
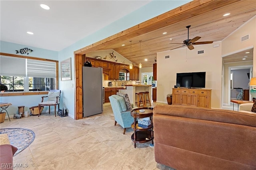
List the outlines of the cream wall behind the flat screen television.
<svg viewBox="0 0 256 170">
<path fill-rule="evenodd" d="M 206 72 L 206 89 L 212 89 L 211 107 L 221 108 L 222 57 L 221 48 L 213 44 L 194 45 L 157 53 L 157 102 L 167 103 L 166 95 L 172 94 L 178 72 Z M 204 50 L 204 54 L 197 51 Z M 170 58 L 165 59 L 166 55 Z"/>
</svg>

